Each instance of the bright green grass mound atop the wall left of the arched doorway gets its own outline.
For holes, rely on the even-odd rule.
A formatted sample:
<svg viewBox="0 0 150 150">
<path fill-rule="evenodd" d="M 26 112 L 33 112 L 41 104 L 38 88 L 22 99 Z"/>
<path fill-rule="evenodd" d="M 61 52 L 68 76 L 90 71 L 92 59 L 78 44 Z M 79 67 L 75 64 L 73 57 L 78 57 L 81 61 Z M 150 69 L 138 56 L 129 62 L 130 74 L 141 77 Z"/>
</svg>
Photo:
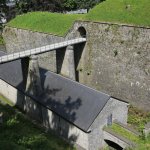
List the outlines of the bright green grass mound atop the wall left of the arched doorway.
<svg viewBox="0 0 150 150">
<path fill-rule="evenodd" d="M 82 16 L 83 15 L 32 12 L 17 16 L 9 22 L 8 25 L 63 36 L 71 28 L 74 21 L 82 18 Z"/>
</svg>

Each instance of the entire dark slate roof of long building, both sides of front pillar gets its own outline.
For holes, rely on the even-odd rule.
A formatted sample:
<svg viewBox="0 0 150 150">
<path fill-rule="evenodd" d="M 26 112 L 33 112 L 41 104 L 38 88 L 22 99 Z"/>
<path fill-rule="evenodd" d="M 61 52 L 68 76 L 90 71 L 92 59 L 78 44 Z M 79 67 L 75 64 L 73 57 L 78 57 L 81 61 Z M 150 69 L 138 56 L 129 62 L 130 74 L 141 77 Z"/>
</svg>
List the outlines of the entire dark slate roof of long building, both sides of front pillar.
<svg viewBox="0 0 150 150">
<path fill-rule="evenodd" d="M 41 77 L 45 90 L 36 100 L 86 132 L 110 99 L 109 95 L 43 69 Z M 20 61 L 0 65 L 0 78 L 21 89 Z"/>
</svg>

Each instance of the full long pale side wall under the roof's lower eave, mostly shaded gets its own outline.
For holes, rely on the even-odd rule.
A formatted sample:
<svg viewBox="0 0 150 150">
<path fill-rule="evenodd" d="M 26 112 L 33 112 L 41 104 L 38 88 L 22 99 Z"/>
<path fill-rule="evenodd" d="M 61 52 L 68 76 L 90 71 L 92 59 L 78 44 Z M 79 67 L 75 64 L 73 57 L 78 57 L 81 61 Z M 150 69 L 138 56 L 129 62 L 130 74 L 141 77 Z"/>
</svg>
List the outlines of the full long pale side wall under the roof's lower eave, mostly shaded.
<svg viewBox="0 0 150 150">
<path fill-rule="evenodd" d="M 0 94 L 8 98 L 13 104 L 23 109 L 27 115 L 42 122 L 47 129 L 55 131 L 68 142 L 77 147 L 88 149 L 88 133 L 60 118 L 51 110 L 40 105 L 33 99 L 25 97 L 16 88 L 0 79 Z"/>
</svg>

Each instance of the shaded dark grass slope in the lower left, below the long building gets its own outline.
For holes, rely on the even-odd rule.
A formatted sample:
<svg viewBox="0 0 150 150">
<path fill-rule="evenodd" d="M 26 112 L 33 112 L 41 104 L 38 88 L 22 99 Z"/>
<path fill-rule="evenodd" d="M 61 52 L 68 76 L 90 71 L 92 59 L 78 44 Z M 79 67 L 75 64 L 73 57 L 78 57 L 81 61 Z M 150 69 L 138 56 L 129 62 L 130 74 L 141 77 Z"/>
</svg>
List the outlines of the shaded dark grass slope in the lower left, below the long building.
<svg viewBox="0 0 150 150">
<path fill-rule="evenodd" d="M 1 100 L 8 102 L 0 96 Z M 15 107 L 0 102 L 0 113 L 3 112 L 3 124 L 0 124 L 0 149 L 5 150 L 73 150 L 51 133 L 32 124 Z"/>
</svg>

